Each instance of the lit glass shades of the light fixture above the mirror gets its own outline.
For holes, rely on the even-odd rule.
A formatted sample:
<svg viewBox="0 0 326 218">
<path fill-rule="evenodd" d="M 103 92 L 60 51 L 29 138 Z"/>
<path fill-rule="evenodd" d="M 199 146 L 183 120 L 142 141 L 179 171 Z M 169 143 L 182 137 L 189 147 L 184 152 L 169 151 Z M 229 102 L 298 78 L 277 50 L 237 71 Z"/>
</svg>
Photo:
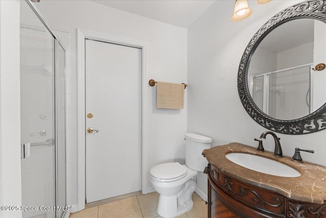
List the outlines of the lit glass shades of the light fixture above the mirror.
<svg viewBox="0 0 326 218">
<path fill-rule="evenodd" d="M 257 0 L 258 4 L 266 4 L 271 0 Z M 251 15 L 253 11 L 248 6 L 247 0 L 236 0 L 234 4 L 234 12 L 231 17 L 233 22 L 243 20 Z"/>
</svg>

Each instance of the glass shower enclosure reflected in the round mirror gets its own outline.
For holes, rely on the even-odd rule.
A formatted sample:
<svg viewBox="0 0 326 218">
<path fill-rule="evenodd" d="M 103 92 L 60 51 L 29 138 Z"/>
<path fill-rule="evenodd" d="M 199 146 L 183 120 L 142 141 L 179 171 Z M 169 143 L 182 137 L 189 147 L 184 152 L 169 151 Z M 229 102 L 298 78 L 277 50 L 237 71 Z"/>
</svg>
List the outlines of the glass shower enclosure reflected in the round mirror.
<svg viewBox="0 0 326 218">
<path fill-rule="evenodd" d="M 253 77 L 252 96 L 265 114 L 283 120 L 310 114 L 312 64 L 267 72 Z"/>
</svg>

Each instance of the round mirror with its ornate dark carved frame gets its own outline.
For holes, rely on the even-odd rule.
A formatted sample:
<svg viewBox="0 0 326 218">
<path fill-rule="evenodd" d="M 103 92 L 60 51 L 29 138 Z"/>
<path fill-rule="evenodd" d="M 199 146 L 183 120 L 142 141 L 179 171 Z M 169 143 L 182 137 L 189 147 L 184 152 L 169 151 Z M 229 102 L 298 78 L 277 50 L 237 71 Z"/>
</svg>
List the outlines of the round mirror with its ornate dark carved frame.
<svg viewBox="0 0 326 218">
<path fill-rule="evenodd" d="M 306 1 L 270 18 L 243 53 L 238 91 L 261 126 L 284 134 L 326 128 L 326 5 Z"/>
</svg>

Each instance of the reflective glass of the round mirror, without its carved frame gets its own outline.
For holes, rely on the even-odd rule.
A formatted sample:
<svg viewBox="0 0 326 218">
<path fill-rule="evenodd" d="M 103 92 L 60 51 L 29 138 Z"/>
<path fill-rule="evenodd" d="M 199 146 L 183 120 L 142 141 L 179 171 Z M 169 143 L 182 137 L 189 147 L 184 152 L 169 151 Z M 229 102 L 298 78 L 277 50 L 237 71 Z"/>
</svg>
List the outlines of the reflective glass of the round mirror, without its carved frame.
<svg viewBox="0 0 326 218">
<path fill-rule="evenodd" d="M 293 120 L 326 103 L 326 86 L 320 84 L 326 70 L 313 70 L 326 61 L 325 39 L 324 22 L 303 18 L 283 23 L 259 43 L 247 81 L 258 109 L 275 119 Z"/>
</svg>

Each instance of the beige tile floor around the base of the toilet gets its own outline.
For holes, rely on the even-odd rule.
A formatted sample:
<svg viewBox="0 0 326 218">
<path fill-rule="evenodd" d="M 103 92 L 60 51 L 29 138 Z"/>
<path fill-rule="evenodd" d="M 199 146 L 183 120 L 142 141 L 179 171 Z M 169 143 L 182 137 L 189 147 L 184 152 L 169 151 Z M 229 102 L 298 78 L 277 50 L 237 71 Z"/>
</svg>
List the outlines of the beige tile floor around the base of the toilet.
<svg viewBox="0 0 326 218">
<path fill-rule="evenodd" d="M 152 192 L 147 195 L 139 195 L 127 199 L 90 207 L 85 210 L 71 213 L 70 218 L 156 218 L 161 217 L 156 212 L 158 193 Z M 191 211 L 184 213 L 178 218 L 206 218 L 207 206 L 196 192 L 193 193 L 194 207 Z"/>
</svg>

